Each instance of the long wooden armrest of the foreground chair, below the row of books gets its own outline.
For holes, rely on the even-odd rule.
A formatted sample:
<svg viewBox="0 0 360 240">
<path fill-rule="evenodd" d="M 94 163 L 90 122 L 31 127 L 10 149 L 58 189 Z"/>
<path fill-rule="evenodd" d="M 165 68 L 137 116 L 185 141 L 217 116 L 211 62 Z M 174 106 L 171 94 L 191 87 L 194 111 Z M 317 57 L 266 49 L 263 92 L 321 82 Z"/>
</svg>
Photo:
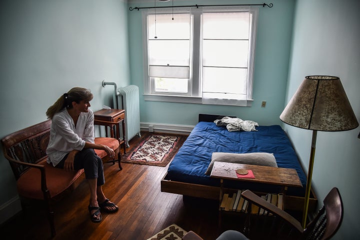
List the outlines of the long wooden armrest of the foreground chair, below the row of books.
<svg viewBox="0 0 360 240">
<path fill-rule="evenodd" d="M 287 212 L 281 210 L 277 206 L 267 202 L 263 198 L 257 196 L 250 190 L 245 190 L 241 193 L 241 196 L 245 198 L 247 201 L 251 202 L 251 204 L 255 204 L 268 212 L 271 212 L 272 214 L 284 219 L 286 222 L 288 222 L 290 225 L 292 225 L 294 228 L 296 228 L 299 232 L 303 232 L 303 227 L 301 226 L 300 222 L 298 222 L 294 217 L 292 217 Z"/>
</svg>

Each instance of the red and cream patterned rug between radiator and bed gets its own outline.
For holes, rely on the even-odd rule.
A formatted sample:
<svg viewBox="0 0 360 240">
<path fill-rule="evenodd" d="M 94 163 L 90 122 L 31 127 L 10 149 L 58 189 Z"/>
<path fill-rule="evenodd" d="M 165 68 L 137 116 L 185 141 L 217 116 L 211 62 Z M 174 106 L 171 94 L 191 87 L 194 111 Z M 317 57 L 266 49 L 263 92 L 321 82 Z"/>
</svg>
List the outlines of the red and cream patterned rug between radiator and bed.
<svg viewBox="0 0 360 240">
<path fill-rule="evenodd" d="M 164 167 L 186 140 L 184 135 L 143 133 L 140 143 L 121 157 L 121 162 Z"/>
</svg>

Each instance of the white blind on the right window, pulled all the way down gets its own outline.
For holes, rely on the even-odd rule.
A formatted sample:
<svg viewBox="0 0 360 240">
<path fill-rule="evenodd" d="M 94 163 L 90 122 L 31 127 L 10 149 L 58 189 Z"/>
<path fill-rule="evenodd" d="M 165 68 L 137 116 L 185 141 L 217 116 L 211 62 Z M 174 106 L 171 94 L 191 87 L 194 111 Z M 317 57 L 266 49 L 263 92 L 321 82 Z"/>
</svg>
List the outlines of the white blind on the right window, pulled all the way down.
<svg viewBox="0 0 360 240">
<path fill-rule="evenodd" d="M 251 19 L 250 12 L 203 13 L 203 103 L 246 104 Z"/>
</svg>

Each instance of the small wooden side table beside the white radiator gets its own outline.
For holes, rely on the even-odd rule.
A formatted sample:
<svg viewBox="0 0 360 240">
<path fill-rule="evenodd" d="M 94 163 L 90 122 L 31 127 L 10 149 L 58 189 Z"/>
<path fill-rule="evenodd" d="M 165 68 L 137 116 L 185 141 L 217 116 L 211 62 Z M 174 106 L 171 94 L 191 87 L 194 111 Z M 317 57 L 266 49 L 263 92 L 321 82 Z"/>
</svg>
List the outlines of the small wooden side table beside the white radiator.
<svg viewBox="0 0 360 240">
<path fill-rule="evenodd" d="M 107 137 L 107 127 L 110 128 L 110 137 L 116 138 L 119 144 L 123 144 L 124 154 L 125 146 L 125 110 L 123 109 L 101 109 L 94 112 L 94 125 L 105 126 L 105 136 Z M 122 130 L 122 139 L 120 138 L 120 123 Z M 114 131 L 115 127 L 115 131 Z"/>
</svg>

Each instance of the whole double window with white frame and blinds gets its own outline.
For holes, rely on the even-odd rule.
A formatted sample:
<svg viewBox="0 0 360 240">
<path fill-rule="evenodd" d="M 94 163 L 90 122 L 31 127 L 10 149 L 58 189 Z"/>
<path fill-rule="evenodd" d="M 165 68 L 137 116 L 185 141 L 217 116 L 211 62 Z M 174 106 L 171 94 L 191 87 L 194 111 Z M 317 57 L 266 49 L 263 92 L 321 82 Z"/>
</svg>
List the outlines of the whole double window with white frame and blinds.
<svg viewBox="0 0 360 240">
<path fill-rule="evenodd" d="M 251 106 L 257 8 L 165 11 L 143 13 L 145 100 Z"/>
</svg>

